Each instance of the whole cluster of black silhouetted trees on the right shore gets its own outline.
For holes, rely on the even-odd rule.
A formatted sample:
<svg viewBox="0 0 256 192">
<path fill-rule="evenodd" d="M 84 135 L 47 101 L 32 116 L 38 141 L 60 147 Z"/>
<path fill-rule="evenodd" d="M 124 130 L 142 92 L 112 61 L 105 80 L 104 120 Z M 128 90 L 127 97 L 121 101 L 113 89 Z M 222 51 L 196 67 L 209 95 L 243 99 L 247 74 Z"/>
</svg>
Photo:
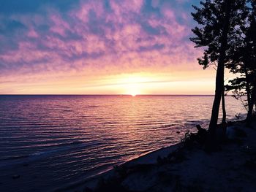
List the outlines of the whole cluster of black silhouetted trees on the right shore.
<svg viewBox="0 0 256 192">
<path fill-rule="evenodd" d="M 200 7 L 193 6 L 192 17 L 198 26 L 192 29 L 195 37 L 190 38 L 195 47 L 203 47 L 203 57 L 198 63 L 206 69 L 215 65 L 216 88 L 211 121 L 208 127 L 208 147 L 217 141 L 216 129 L 219 107 L 222 101 L 222 124 L 225 133 L 226 111 L 225 90 L 232 90 L 236 98 L 247 96 L 248 115 L 252 119 L 256 97 L 255 70 L 255 1 L 254 0 L 206 0 Z M 238 74 L 228 85 L 224 85 L 225 68 Z M 240 97 L 239 97 L 240 96 Z"/>
</svg>

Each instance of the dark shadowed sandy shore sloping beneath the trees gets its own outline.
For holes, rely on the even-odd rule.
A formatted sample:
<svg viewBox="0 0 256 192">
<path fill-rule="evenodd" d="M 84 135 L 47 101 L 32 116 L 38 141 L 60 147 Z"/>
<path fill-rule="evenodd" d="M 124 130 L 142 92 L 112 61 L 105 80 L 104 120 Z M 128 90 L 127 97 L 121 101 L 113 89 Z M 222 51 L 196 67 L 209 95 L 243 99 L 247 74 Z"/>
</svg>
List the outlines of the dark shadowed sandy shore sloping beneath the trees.
<svg viewBox="0 0 256 192">
<path fill-rule="evenodd" d="M 227 137 L 212 153 L 180 142 L 57 191 L 255 191 L 256 123 L 232 123 Z"/>
</svg>

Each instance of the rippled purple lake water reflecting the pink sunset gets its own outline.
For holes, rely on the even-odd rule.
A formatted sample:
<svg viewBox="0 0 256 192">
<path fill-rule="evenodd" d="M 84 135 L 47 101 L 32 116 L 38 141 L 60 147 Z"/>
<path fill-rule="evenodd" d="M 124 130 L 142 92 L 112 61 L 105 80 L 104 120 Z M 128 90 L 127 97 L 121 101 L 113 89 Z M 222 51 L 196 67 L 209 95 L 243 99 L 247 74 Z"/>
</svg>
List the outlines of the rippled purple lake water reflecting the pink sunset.
<svg viewBox="0 0 256 192">
<path fill-rule="evenodd" d="M 52 191 L 176 143 L 208 125 L 213 99 L 0 96 L 0 191 Z M 226 102 L 228 119 L 244 112 Z"/>
</svg>

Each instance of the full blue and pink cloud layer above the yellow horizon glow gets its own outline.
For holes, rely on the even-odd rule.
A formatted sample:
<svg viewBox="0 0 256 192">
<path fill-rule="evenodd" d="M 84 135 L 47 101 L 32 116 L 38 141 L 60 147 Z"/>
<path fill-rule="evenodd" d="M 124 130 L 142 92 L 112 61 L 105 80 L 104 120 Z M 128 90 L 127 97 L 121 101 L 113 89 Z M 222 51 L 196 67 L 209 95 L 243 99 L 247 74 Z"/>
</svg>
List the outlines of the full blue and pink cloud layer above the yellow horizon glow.
<svg viewBox="0 0 256 192">
<path fill-rule="evenodd" d="M 189 64 L 189 1 L 1 1 L 0 74 L 140 72 Z"/>
</svg>

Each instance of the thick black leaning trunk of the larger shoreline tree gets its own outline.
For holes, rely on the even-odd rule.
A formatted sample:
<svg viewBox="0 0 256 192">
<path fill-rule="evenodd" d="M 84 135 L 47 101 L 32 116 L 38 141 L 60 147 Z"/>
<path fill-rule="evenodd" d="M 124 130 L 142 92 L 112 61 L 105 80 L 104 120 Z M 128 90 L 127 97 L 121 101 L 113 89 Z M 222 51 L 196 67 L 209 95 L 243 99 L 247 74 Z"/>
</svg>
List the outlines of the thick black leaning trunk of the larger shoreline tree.
<svg viewBox="0 0 256 192">
<path fill-rule="evenodd" d="M 230 10 L 231 9 L 231 1 L 225 1 L 225 18 L 222 30 L 222 39 L 221 39 L 221 47 L 219 51 L 219 61 L 217 66 L 217 74 L 216 74 L 216 82 L 215 82 L 215 96 L 214 96 L 214 104 L 211 110 L 211 121 L 208 128 L 208 148 L 209 150 L 214 149 L 216 146 L 216 137 L 215 131 L 217 128 L 218 118 L 219 118 L 219 105 L 220 100 L 222 98 L 222 93 L 224 89 L 224 69 L 225 69 L 225 58 L 226 58 L 226 50 L 227 50 L 227 34 L 230 28 Z"/>
</svg>

